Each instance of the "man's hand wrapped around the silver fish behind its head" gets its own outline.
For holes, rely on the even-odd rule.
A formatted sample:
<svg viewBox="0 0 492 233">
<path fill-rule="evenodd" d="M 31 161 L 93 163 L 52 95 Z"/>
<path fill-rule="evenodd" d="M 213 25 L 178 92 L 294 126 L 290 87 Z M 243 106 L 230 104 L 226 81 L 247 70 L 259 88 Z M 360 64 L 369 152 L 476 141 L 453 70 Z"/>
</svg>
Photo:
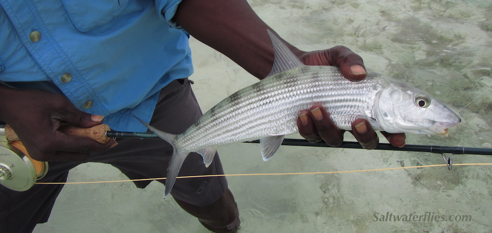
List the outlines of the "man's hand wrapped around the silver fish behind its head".
<svg viewBox="0 0 492 233">
<path fill-rule="evenodd" d="M 362 58 L 344 46 L 305 53 L 301 56 L 301 61 L 307 65 L 339 66 L 343 76 L 351 81 L 360 81 L 367 76 Z M 301 136 L 309 142 L 324 140 L 330 146 L 339 146 L 343 142 L 343 130 L 338 129 L 328 111 L 321 105 L 313 105 L 310 109 L 301 111 L 297 118 Z M 373 149 L 379 143 L 376 132 L 366 119 L 355 120 L 350 132 L 366 149 Z M 405 145 L 405 134 L 381 133 L 391 145 Z"/>
</svg>

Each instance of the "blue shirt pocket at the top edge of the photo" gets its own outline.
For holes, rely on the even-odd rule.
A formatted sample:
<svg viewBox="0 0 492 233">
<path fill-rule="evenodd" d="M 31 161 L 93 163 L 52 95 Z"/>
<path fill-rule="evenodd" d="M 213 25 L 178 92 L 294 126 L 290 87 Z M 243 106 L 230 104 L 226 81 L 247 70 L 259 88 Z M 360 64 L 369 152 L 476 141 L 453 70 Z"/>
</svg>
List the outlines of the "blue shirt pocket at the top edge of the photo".
<svg viewBox="0 0 492 233">
<path fill-rule="evenodd" d="M 118 16 L 128 0 L 62 0 L 70 21 L 80 31 L 90 31 Z"/>
</svg>

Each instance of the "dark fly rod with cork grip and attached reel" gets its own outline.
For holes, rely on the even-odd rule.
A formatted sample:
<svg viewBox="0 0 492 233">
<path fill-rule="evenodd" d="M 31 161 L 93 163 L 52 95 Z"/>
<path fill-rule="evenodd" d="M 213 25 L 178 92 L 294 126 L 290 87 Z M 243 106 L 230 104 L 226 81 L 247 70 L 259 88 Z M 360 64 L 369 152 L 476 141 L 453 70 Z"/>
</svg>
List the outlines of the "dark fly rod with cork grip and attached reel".
<svg viewBox="0 0 492 233">
<path fill-rule="evenodd" d="M 91 128 L 78 128 L 73 125 L 62 124 L 59 130 L 65 134 L 90 138 L 102 144 L 107 143 L 110 138 L 159 139 L 153 133 L 111 131 L 106 124 Z M 0 126 L 0 153 L 2 155 L 0 156 L 0 185 L 16 191 L 25 191 L 30 189 L 37 179 L 42 178 L 47 173 L 48 163 L 32 159 L 22 142 L 18 140 L 19 138 L 12 128 L 8 125 Z M 260 141 L 245 143 L 260 143 Z M 309 143 L 301 139 L 284 139 L 282 145 L 333 147 L 324 142 Z M 356 142 L 343 142 L 337 148 L 362 149 L 363 147 Z M 492 155 L 492 148 L 462 146 L 405 145 L 400 148 L 391 146 L 391 144 L 380 143 L 374 149 L 438 153 L 444 158 L 449 170 L 453 165 L 451 156 L 454 154 Z M 451 155 L 446 157 L 445 153 Z"/>
</svg>

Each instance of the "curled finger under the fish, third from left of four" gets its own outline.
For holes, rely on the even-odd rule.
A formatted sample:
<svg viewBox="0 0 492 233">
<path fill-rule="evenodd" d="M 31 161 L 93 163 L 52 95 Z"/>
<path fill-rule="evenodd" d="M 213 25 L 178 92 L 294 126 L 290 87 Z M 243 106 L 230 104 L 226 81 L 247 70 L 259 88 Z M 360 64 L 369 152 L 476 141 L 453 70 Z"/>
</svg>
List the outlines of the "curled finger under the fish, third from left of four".
<svg viewBox="0 0 492 233">
<path fill-rule="evenodd" d="M 374 149 L 379 144 L 379 138 L 366 119 L 356 119 L 352 123 L 352 134 L 365 149 Z"/>
</svg>

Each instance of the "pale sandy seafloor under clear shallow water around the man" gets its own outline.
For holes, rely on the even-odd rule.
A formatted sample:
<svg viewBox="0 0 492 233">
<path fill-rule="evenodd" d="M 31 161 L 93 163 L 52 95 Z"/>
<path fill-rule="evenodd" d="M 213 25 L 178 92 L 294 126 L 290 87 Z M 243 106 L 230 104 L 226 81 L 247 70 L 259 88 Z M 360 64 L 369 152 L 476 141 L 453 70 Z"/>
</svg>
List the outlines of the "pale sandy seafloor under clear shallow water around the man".
<svg viewBox="0 0 492 233">
<path fill-rule="evenodd" d="M 460 111 L 450 136 L 407 135 L 407 144 L 492 147 L 490 0 L 250 0 L 258 15 L 303 50 L 345 45 L 375 72 L 426 90 Z M 191 39 L 193 88 L 203 110 L 257 82 L 241 67 Z M 483 94 L 481 94 L 483 93 Z M 481 94 L 481 95 L 480 95 Z M 480 95 L 480 96 L 479 96 Z M 346 133 L 346 140 L 351 140 Z M 296 137 L 296 136 L 291 136 Z M 381 139 L 381 142 L 385 142 Z M 329 172 L 442 164 L 439 154 L 282 146 L 263 162 L 258 145 L 218 149 L 227 174 Z M 454 163 L 491 163 L 455 155 Z M 328 175 L 229 177 L 241 233 L 491 232 L 492 167 L 455 166 Z M 109 165 L 73 169 L 69 181 L 126 177 Z M 34 232 L 207 232 L 163 186 L 66 185 L 50 221 Z M 386 215 L 445 215 L 446 221 L 374 221 Z M 380 216 L 378 215 L 378 217 Z M 471 216 L 471 221 L 448 217 Z M 461 218 L 461 217 L 460 217 Z"/>
</svg>

